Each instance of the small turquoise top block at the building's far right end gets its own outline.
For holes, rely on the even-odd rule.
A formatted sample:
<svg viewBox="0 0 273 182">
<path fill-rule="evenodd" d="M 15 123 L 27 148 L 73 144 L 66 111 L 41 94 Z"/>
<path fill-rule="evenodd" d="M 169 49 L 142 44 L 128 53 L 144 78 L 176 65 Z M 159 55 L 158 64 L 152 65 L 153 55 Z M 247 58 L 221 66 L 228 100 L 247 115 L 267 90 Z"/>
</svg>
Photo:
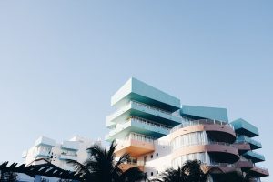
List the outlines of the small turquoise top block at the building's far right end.
<svg viewBox="0 0 273 182">
<path fill-rule="evenodd" d="M 248 137 L 258 136 L 258 128 L 256 126 L 251 125 L 242 118 L 239 118 L 231 122 L 231 125 L 234 126 L 235 132 L 238 135 Z"/>
</svg>

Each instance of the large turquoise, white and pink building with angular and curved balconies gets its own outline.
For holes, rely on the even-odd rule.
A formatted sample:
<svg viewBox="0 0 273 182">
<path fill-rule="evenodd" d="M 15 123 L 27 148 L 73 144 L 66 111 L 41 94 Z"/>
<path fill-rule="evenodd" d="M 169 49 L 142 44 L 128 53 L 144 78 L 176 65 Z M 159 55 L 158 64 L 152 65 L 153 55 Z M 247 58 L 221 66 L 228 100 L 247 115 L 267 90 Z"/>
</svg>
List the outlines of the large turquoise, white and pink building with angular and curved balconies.
<svg viewBox="0 0 273 182">
<path fill-rule="evenodd" d="M 256 163 L 265 157 L 253 150 L 261 143 L 258 128 L 243 119 L 230 122 L 226 108 L 185 106 L 136 78 L 130 78 L 111 97 L 116 111 L 106 116 L 107 141 L 116 140 L 116 156 L 125 152 L 131 160 L 122 166 L 140 167 L 147 177 L 157 177 L 167 167 L 198 159 L 213 174 L 249 171 L 254 181 L 268 176 Z"/>
</svg>

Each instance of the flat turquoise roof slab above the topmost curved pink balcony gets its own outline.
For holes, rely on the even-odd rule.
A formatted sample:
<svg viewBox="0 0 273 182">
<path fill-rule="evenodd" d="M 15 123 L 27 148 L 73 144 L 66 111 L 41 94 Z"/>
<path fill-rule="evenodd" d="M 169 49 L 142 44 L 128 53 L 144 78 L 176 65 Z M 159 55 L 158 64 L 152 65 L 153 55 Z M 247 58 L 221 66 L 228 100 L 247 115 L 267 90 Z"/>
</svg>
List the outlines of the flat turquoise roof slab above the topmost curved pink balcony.
<svg viewBox="0 0 273 182">
<path fill-rule="evenodd" d="M 228 122 L 226 108 L 183 105 L 180 114 L 194 119 L 207 118 Z"/>
</svg>

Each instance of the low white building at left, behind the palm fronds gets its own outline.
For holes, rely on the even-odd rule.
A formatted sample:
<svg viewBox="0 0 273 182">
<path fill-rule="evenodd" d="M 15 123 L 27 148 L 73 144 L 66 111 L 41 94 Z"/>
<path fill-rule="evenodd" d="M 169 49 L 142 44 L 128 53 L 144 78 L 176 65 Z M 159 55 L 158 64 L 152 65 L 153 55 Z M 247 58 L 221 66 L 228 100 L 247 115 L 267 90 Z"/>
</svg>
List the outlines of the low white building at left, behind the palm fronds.
<svg viewBox="0 0 273 182">
<path fill-rule="evenodd" d="M 74 136 L 59 144 L 54 139 L 40 136 L 35 141 L 34 147 L 24 151 L 22 157 L 25 158 L 26 165 L 41 165 L 47 161 L 56 167 L 73 171 L 74 168 L 67 164 L 66 159 L 85 162 L 88 157 L 86 148 L 95 143 L 101 145 L 99 140 L 94 141 L 82 136 Z"/>
</svg>

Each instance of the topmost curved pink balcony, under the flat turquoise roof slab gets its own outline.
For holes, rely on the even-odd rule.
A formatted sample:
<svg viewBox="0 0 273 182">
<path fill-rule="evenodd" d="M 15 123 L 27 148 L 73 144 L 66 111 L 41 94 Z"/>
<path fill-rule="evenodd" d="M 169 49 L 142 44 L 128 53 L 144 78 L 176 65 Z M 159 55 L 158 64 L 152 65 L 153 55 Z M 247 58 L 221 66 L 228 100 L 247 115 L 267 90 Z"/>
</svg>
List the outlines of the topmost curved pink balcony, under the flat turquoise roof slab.
<svg viewBox="0 0 273 182">
<path fill-rule="evenodd" d="M 233 143 L 236 140 L 233 126 L 226 122 L 210 119 L 188 121 L 175 126 L 171 129 L 171 139 L 197 131 L 206 131 L 207 135 L 217 138 L 217 140 L 222 142 Z"/>
</svg>

